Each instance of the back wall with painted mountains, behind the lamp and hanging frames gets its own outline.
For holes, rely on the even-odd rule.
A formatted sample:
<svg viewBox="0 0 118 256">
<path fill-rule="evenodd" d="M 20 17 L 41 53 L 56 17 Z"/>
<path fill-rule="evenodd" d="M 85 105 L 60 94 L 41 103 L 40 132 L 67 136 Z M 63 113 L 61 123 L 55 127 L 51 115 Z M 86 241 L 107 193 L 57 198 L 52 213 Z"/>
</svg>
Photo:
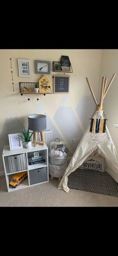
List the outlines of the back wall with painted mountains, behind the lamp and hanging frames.
<svg viewBox="0 0 118 256">
<path fill-rule="evenodd" d="M 116 52 L 116 51 L 115 51 Z M 115 52 L 104 52 L 104 60 L 106 68 L 105 74 L 108 77 L 116 71 L 116 56 Z M 108 54 L 108 56 L 107 56 Z M 68 55 L 73 72 L 70 75 L 70 89 L 69 93 L 65 94 L 46 94 L 45 96 L 39 95 L 37 101 L 36 95 L 29 95 L 28 101 L 25 96 L 21 96 L 19 93 L 20 81 L 32 81 L 37 82 L 41 75 L 34 72 L 34 60 L 48 60 L 51 61 L 51 73 L 47 77 L 52 82 L 52 61 L 59 61 L 61 55 Z M 117 54 L 118 56 L 118 54 Z M 12 71 L 14 80 L 14 89 L 12 90 L 11 80 L 11 68 L 10 59 L 12 58 Z M 110 61 L 111 57 L 111 61 Z M 113 58 L 115 57 L 115 63 Z M 31 77 L 19 77 L 17 58 L 30 59 Z M 70 152 L 72 153 L 77 144 L 72 144 L 73 138 L 80 138 L 82 132 L 87 124 L 88 118 L 92 115 L 94 110 L 94 102 L 91 98 L 91 94 L 86 83 L 85 77 L 88 76 L 91 81 L 94 94 L 98 96 L 98 84 L 100 79 L 102 50 L 98 49 L 4 49 L 0 50 L 0 171 L 3 170 L 1 153 L 4 144 L 8 144 L 8 134 L 20 132 L 22 127 L 27 128 L 27 116 L 29 114 L 46 114 L 47 115 L 47 129 L 52 128 L 53 138 L 56 136 L 67 142 Z M 106 60 L 105 60 L 106 59 Z M 106 65 L 106 61 L 110 62 Z M 115 68 L 113 67 L 115 65 Z M 118 78 L 117 78 L 118 79 Z M 51 83 L 51 87 L 53 84 Z M 107 108 L 106 115 L 110 121 L 110 131 L 113 128 L 112 123 L 118 122 L 116 117 L 116 79 L 115 84 L 112 86 L 112 99 L 115 102 L 108 106 L 105 103 L 105 109 Z M 109 91 L 106 99 L 110 101 L 111 93 Z M 107 101 L 107 102 L 108 102 Z M 116 105 L 115 105 L 116 104 Z M 108 113 L 110 110 L 110 116 Z M 117 130 L 118 131 L 118 130 Z M 112 132 L 113 133 L 113 132 Z M 118 135 L 118 134 L 117 134 Z"/>
</svg>

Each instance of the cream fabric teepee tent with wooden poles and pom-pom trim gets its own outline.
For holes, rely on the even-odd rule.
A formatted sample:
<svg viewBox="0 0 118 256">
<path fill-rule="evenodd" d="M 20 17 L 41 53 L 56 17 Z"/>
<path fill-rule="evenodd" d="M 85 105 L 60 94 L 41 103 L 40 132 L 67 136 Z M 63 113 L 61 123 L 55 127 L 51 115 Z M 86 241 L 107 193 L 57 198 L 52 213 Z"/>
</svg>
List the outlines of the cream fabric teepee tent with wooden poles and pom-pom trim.
<svg viewBox="0 0 118 256">
<path fill-rule="evenodd" d="M 72 158 L 69 162 L 65 173 L 58 185 L 58 189 L 63 189 L 68 192 L 69 188 L 67 186 L 68 175 L 76 170 L 88 155 L 90 155 L 94 150 L 97 149 L 98 153 L 105 158 L 105 171 L 107 171 L 112 178 L 118 182 L 118 155 L 115 146 L 112 142 L 109 131 L 105 125 L 106 119 L 103 118 L 103 99 L 115 77 L 115 73 L 112 75 L 107 87 L 107 77 L 102 77 L 101 82 L 101 93 L 100 102 L 97 104 L 94 93 L 92 91 L 91 85 L 88 78 L 86 81 L 88 83 L 89 89 L 91 91 L 92 97 L 94 99 L 96 109 L 94 111 L 93 117 L 91 118 L 91 124 L 88 124 Z M 79 170 L 78 170 L 79 171 Z"/>
</svg>

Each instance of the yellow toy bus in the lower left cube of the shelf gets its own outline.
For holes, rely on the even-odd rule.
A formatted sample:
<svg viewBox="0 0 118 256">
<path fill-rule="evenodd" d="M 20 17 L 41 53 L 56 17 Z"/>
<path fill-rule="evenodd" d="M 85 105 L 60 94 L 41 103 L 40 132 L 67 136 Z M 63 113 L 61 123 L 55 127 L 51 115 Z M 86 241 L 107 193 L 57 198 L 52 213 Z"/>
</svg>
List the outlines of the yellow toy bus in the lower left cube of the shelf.
<svg viewBox="0 0 118 256">
<path fill-rule="evenodd" d="M 9 187 L 17 187 L 25 178 L 27 178 L 27 171 L 14 174 L 9 182 Z"/>
</svg>

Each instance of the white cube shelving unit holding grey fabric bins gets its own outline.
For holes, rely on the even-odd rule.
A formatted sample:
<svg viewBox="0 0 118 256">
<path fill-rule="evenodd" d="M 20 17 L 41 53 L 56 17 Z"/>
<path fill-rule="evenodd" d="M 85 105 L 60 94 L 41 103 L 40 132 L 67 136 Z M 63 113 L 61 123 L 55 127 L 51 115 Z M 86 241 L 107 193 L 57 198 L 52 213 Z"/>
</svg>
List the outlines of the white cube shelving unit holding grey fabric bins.
<svg viewBox="0 0 118 256">
<path fill-rule="evenodd" d="M 45 161 L 31 164 L 30 159 L 34 156 L 33 153 L 38 151 Z M 48 182 L 48 147 L 46 144 L 15 150 L 10 150 L 9 145 L 5 145 L 2 151 L 2 159 L 8 192 Z M 9 181 L 13 174 L 24 170 L 27 171 L 27 178 L 16 188 L 10 188 Z"/>
</svg>

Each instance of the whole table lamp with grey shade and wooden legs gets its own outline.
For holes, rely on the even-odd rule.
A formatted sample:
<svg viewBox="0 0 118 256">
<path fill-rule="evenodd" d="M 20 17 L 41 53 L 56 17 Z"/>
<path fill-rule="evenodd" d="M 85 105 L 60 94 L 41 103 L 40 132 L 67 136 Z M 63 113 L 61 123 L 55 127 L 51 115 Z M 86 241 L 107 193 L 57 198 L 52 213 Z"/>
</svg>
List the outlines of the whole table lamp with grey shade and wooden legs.
<svg viewBox="0 0 118 256">
<path fill-rule="evenodd" d="M 28 115 L 28 128 L 33 130 L 33 142 L 34 146 L 44 145 L 43 130 L 46 129 L 46 115 L 44 114 L 31 114 Z M 40 141 L 36 142 L 36 132 L 40 132 Z"/>
</svg>

